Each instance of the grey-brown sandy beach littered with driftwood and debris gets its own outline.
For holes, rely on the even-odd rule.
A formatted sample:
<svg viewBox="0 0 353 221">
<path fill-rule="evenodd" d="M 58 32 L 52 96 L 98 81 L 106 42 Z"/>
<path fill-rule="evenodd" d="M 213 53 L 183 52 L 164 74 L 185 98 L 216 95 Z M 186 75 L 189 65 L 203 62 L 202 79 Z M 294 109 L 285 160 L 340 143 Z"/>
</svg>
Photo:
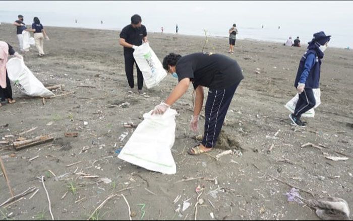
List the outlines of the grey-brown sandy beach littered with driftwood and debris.
<svg viewBox="0 0 353 221">
<path fill-rule="evenodd" d="M 12 213 L 10 218 L 51 218 L 46 193 L 37 179 L 41 175 L 55 219 L 87 219 L 112 194 L 116 196 L 94 217 L 129 219 L 128 205 L 121 196 L 124 194 L 134 220 L 193 220 L 198 197 L 195 189 L 199 185 L 204 187 L 200 196 L 204 203 L 197 207 L 197 219 L 212 219 L 210 213 L 218 220 L 319 219 L 309 207 L 287 202 L 285 193 L 291 186 L 300 188 L 305 199 L 336 196 L 353 205 L 352 50 L 329 47 L 325 51 L 322 103 L 315 110 L 314 119 L 305 119 L 309 126 L 299 129 L 289 124 L 289 111 L 284 105 L 296 95 L 293 81 L 306 48 L 237 40 L 234 54 L 228 54 L 227 38 L 210 38 L 206 51 L 226 54 L 243 69 L 245 79 L 223 126 L 225 133 L 239 142 L 241 152 L 218 160 L 214 156 L 222 149 L 196 157 L 187 154 L 198 135 L 189 130 L 193 109 L 190 87 L 172 107 L 179 114 L 172 148 L 177 174 L 163 175 L 118 159 L 115 150 L 124 146 L 134 131 L 123 127 L 124 122 L 142 122 L 143 114 L 164 100 L 177 81 L 167 76 L 159 86 L 145 87 L 145 95 L 130 94 L 123 47 L 118 43 L 119 31 L 45 28 L 50 37 L 50 41 L 44 42 L 46 55 L 39 57 L 32 46 L 25 63 L 45 86 L 65 85 L 55 94 L 75 93 L 46 99 L 43 105 L 41 99 L 22 98 L 25 95 L 13 86 L 17 103 L 0 108 L 3 140 L 55 137 L 53 142 L 21 151 L 0 144 L 0 155 L 15 195 L 29 187 L 39 189 L 31 199 L 28 194 L 7 208 L 0 208 L 6 215 Z M 19 50 L 13 25 L 1 24 L 0 36 Z M 148 33 L 148 39 L 160 60 L 169 52 L 200 52 L 205 40 L 161 33 Z M 125 102 L 129 105 L 121 106 Z M 201 118 L 200 134 L 203 123 Z M 36 129 L 18 135 L 33 127 Z M 66 132 L 78 132 L 78 136 L 65 137 Z M 118 138 L 124 132 L 128 135 L 120 141 Z M 324 148 L 301 148 L 307 142 Z M 347 156 L 348 160 L 332 161 L 326 156 Z M 76 162 L 79 163 L 68 166 Z M 70 185 L 77 188 L 75 194 Z M 180 199 L 173 203 L 179 195 Z M 9 189 L 4 176 L 0 176 L 0 203 L 8 198 Z M 188 199 L 191 205 L 182 211 L 183 202 Z M 0 217 L 4 218 L 2 214 Z"/>
</svg>

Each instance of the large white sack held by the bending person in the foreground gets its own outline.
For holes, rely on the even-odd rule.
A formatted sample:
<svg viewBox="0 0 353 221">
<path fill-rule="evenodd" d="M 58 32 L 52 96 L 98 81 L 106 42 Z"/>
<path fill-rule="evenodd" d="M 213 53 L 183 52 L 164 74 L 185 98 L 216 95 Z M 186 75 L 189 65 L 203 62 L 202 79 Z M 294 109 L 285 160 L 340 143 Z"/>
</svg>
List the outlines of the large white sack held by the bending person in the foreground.
<svg viewBox="0 0 353 221">
<path fill-rule="evenodd" d="M 175 138 L 175 115 L 168 109 L 163 115 L 143 115 L 144 120 L 137 126 L 118 158 L 148 170 L 164 174 L 177 173 L 171 147 Z"/>
</svg>

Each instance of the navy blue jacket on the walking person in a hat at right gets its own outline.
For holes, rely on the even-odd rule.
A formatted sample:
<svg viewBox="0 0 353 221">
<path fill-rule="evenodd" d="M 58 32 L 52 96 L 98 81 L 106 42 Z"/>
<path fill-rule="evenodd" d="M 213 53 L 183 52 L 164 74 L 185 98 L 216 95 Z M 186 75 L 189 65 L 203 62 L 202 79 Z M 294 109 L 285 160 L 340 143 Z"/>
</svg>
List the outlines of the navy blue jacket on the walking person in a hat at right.
<svg viewBox="0 0 353 221">
<path fill-rule="evenodd" d="M 303 83 L 305 88 L 319 88 L 320 67 L 321 59 L 318 57 L 316 50 L 310 49 L 306 51 L 300 60 L 294 86 L 297 88 L 299 83 Z"/>
</svg>

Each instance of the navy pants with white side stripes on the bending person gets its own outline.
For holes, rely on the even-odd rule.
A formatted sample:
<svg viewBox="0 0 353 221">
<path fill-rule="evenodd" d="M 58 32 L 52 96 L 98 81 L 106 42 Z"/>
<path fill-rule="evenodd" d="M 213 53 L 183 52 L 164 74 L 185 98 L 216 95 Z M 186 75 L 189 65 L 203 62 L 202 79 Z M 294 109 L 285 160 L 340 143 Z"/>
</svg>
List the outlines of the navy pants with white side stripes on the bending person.
<svg viewBox="0 0 353 221">
<path fill-rule="evenodd" d="M 240 83 L 240 82 L 239 82 Z M 205 129 L 202 144 L 206 148 L 216 145 L 225 115 L 239 83 L 221 90 L 209 90 L 205 105 Z"/>
</svg>

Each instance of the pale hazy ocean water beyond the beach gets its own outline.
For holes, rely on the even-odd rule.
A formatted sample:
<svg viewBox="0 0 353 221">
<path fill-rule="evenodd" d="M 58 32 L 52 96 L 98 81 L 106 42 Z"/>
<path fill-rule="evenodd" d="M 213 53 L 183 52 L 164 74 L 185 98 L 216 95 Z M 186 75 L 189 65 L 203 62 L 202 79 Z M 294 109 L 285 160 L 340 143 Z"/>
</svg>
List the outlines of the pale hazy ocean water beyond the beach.
<svg viewBox="0 0 353 221">
<path fill-rule="evenodd" d="M 32 24 L 34 16 L 39 17 L 44 26 L 59 26 L 59 27 L 78 27 L 78 28 L 92 28 L 92 29 L 107 29 L 107 30 L 121 30 L 130 23 L 130 16 L 122 14 L 102 14 L 100 15 L 85 15 L 84 13 L 78 15 L 70 15 L 64 13 L 33 13 L 20 11 L 0 11 L 0 22 L 13 23 L 17 20 L 17 15 L 25 16 L 24 22 L 27 25 Z M 99 13 L 98 13 L 99 14 Z M 162 16 L 162 15 L 160 15 Z M 162 16 L 163 17 L 163 16 Z M 143 24 L 146 26 L 148 32 L 161 32 L 161 27 L 164 33 L 175 33 L 175 24 L 178 22 L 179 34 L 205 36 L 204 30 L 207 30 L 207 35 L 210 37 L 228 37 L 228 30 L 232 25 L 224 22 L 224 18 L 219 21 L 217 18 L 204 19 L 202 24 L 191 19 L 191 15 L 185 15 L 183 18 L 163 17 L 158 15 L 145 14 L 143 15 Z M 75 23 L 77 20 L 77 23 Z M 101 24 L 100 21 L 103 21 Z M 295 22 L 292 19 L 287 21 L 274 22 L 266 21 L 241 21 L 237 23 L 239 34 L 237 39 L 252 39 L 262 41 L 272 41 L 284 43 L 289 36 L 294 40 L 297 36 L 300 37 L 301 43 L 308 43 L 313 33 L 318 31 L 325 31 L 327 35 L 332 35 L 329 43 L 330 47 L 346 48 L 353 46 L 353 28 L 350 23 L 341 22 L 325 22 L 318 25 L 316 21 L 310 22 Z M 278 26 L 280 24 L 280 29 Z M 262 28 L 264 25 L 264 28 Z M 15 29 L 15 27 L 14 27 Z M 1 38 L 0 29 L 0 38 Z M 50 33 L 48 33 L 50 35 Z M 225 40 L 227 42 L 227 40 Z M 226 43 L 227 44 L 227 43 Z"/>
</svg>

